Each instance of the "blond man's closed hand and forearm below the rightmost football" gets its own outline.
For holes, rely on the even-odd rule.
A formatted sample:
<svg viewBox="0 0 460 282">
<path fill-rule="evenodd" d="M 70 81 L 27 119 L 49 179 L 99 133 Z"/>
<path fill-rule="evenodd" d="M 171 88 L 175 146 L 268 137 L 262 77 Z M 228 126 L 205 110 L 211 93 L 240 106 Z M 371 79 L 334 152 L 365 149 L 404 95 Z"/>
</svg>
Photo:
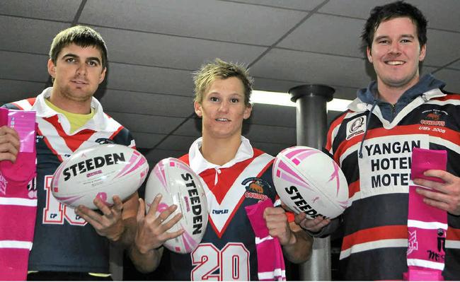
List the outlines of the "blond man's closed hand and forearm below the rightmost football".
<svg viewBox="0 0 460 282">
<path fill-rule="evenodd" d="M 283 253 L 290 262 L 299 264 L 310 258 L 313 238 L 297 223 L 289 223 L 283 208 L 265 208 L 263 217 L 267 223 L 268 233 L 272 237 L 278 237 Z"/>
</svg>

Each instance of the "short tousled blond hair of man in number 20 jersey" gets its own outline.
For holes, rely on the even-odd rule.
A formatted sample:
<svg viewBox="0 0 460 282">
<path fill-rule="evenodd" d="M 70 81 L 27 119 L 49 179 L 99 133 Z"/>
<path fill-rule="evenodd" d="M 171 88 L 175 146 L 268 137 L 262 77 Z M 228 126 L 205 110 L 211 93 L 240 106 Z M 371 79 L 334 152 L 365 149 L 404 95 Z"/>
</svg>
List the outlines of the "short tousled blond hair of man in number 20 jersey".
<svg viewBox="0 0 460 282">
<path fill-rule="evenodd" d="M 195 83 L 195 102 L 200 103 L 203 100 L 205 91 L 216 78 L 226 79 L 236 77 L 243 83 L 244 87 L 244 104 L 250 105 L 251 93 L 253 92 L 253 78 L 249 76 L 249 71 L 242 64 L 228 63 L 222 59 L 203 64 L 198 71 L 193 73 L 193 83 Z"/>
</svg>

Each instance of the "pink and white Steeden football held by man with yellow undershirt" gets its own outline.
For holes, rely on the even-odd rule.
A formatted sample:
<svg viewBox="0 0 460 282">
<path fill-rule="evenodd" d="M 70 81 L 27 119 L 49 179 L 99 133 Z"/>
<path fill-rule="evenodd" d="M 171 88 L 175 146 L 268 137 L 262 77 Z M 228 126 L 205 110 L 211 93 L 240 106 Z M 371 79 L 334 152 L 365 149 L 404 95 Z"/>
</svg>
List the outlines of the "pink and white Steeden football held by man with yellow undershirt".
<svg viewBox="0 0 460 282">
<path fill-rule="evenodd" d="M 133 148 L 96 145 L 75 151 L 59 165 L 51 191 L 54 198 L 67 206 L 97 209 L 93 204 L 96 196 L 108 205 L 113 205 L 115 195 L 123 201 L 136 192 L 148 172 L 144 155 Z"/>
</svg>

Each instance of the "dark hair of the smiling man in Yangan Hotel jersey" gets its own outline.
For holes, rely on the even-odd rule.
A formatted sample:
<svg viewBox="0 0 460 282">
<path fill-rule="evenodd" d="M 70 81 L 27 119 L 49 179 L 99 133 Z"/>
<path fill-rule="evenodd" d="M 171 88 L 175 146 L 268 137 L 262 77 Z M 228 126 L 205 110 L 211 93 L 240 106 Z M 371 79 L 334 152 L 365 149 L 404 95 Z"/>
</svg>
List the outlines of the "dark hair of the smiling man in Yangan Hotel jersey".
<svg viewBox="0 0 460 282">
<path fill-rule="evenodd" d="M 384 6 L 376 6 L 372 9 L 366 25 L 362 30 L 361 38 L 365 47 L 372 47 L 374 34 L 380 23 L 391 20 L 392 18 L 410 18 L 417 27 L 418 42 L 420 47 L 427 43 L 427 18 L 415 6 L 403 1 L 396 1 Z"/>
</svg>

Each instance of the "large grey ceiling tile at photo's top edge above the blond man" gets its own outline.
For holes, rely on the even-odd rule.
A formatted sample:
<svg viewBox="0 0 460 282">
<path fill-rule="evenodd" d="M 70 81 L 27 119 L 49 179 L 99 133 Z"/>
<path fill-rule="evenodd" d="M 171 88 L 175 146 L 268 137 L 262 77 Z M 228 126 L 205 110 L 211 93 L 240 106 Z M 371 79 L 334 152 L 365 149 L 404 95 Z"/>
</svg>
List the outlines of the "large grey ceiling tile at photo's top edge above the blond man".
<svg viewBox="0 0 460 282">
<path fill-rule="evenodd" d="M 80 21 L 150 33 L 272 45 L 304 16 L 306 12 L 302 11 L 212 0 L 89 0 Z"/>
</svg>

